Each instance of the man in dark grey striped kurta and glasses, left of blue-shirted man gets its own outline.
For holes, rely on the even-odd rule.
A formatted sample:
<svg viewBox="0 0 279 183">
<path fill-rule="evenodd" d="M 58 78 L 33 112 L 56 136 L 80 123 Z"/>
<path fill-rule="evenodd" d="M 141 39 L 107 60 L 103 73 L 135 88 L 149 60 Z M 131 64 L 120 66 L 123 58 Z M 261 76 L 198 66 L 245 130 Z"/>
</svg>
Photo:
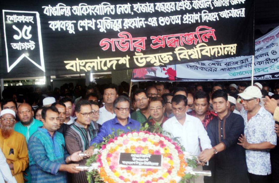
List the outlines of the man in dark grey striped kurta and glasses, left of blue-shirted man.
<svg viewBox="0 0 279 183">
<path fill-rule="evenodd" d="M 97 104 L 98 105 L 98 104 Z M 76 120 L 68 128 L 65 135 L 65 145 L 70 155 L 76 151 L 82 151 L 89 158 L 93 151 L 86 151 L 89 148 L 89 143 L 96 137 L 96 126 L 91 118 L 95 114 L 92 112 L 92 107 L 89 101 L 80 100 L 76 103 Z M 99 112 L 99 110 L 98 110 Z M 95 121 L 96 122 L 96 121 Z M 77 164 L 85 165 L 87 158 L 78 161 Z M 84 171 L 77 174 L 71 174 L 72 182 L 87 183 L 87 176 Z"/>
</svg>

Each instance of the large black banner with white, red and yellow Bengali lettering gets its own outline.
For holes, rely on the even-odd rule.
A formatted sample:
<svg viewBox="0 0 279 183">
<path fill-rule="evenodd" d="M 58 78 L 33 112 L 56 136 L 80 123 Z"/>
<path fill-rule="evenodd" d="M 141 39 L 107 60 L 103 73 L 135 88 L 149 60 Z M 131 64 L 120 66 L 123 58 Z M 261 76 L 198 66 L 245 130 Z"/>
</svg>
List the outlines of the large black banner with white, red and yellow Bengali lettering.
<svg viewBox="0 0 279 183">
<path fill-rule="evenodd" d="M 253 54 L 254 1 L 2 1 L 0 78 Z"/>
</svg>

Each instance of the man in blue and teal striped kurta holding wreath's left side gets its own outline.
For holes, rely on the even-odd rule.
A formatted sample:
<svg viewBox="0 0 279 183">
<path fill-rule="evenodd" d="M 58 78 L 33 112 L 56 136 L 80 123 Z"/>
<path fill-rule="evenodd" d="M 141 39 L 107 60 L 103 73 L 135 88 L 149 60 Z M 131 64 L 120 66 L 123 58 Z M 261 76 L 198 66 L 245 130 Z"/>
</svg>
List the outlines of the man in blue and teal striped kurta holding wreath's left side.
<svg viewBox="0 0 279 183">
<path fill-rule="evenodd" d="M 64 137 L 59 128 L 59 112 L 55 107 L 42 110 L 44 126 L 30 137 L 28 152 L 30 156 L 30 173 L 32 182 L 36 183 L 66 183 L 67 174 L 78 173 L 78 164 L 69 164 L 72 161 L 80 161 L 81 151 L 69 156 Z"/>
</svg>

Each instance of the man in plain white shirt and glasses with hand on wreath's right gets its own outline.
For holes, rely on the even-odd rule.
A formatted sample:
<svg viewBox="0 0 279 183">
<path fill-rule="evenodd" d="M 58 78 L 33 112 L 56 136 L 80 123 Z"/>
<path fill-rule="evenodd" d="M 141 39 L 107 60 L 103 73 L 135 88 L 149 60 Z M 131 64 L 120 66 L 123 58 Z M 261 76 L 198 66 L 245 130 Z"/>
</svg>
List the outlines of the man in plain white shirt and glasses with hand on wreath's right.
<svg viewBox="0 0 279 183">
<path fill-rule="evenodd" d="M 191 155 L 200 154 L 199 139 L 202 150 L 212 148 L 200 119 L 186 114 L 187 97 L 175 95 L 171 100 L 171 105 L 174 117 L 164 122 L 163 130 L 169 132 L 172 137 L 178 138 L 181 145 Z"/>
</svg>

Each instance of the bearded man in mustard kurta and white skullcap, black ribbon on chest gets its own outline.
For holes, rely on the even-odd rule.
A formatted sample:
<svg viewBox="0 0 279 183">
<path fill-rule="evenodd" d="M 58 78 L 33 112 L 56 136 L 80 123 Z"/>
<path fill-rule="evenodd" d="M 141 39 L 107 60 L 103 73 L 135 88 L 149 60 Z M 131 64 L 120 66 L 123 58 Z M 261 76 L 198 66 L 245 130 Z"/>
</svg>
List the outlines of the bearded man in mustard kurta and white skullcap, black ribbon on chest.
<svg viewBox="0 0 279 183">
<path fill-rule="evenodd" d="M 23 135 L 13 130 L 15 111 L 4 109 L 0 113 L 0 148 L 2 149 L 12 175 L 23 183 L 23 171 L 28 167 L 28 151 Z"/>
</svg>

